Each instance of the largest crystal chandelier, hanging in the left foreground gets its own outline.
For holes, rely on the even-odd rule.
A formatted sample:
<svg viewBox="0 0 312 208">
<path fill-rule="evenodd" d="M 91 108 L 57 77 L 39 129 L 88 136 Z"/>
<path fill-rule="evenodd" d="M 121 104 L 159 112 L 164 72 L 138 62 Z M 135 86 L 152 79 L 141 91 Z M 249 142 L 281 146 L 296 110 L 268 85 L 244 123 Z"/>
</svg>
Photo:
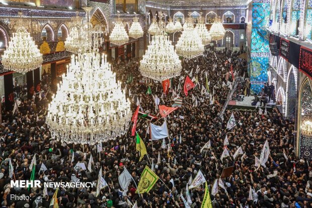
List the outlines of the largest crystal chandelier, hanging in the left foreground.
<svg viewBox="0 0 312 208">
<path fill-rule="evenodd" d="M 111 65 L 98 52 L 71 56 L 62 83 L 48 107 L 52 136 L 67 144 L 95 145 L 126 133 L 130 102 Z"/>
</svg>

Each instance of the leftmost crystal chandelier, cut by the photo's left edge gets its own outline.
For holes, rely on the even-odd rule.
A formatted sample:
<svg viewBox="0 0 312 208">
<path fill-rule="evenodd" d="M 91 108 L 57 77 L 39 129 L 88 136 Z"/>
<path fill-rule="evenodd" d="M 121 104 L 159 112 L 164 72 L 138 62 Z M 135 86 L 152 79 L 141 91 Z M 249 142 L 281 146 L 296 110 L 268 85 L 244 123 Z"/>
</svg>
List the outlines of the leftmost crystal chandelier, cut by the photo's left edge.
<svg viewBox="0 0 312 208">
<path fill-rule="evenodd" d="M 15 25 L 16 32 L 13 33 L 9 46 L 2 56 L 2 64 L 7 70 L 26 73 L 40 67 L 43 59 L 35 41 L 24 27 L 21 12 L 19 16 Z"/>
</svg>

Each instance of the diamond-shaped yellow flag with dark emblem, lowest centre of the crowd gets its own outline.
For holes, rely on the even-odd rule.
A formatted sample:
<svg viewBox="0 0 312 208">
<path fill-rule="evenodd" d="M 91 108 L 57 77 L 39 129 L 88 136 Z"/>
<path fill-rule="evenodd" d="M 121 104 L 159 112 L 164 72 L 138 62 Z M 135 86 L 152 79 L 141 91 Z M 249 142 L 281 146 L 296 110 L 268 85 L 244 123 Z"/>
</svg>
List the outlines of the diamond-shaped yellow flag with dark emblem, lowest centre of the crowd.
<svg viewBox="0 0 312 208">
<path fill-rule="evenodd" d="M 159 177 L 149 167 L 145 166 L 137 186 L 137 193 L 148 193 L 158 179 Z"/>
</svg>

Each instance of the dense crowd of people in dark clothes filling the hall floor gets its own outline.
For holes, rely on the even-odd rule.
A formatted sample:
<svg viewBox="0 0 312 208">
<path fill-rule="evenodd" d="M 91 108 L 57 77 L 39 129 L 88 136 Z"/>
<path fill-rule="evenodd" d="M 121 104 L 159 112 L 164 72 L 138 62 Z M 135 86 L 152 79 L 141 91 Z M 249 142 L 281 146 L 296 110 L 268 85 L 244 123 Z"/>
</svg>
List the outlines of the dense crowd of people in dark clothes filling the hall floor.
<svg viewBox="0 0 312 208">
<path fill-rule="evenodd" d="M 255 108 L 250 111 L 226 110 L 223 120 L 219 116 L 232 86 L 230 64 L 233 74 L 239 78 L 246 73 L 246 61 L 236 53 L 223 50 L 206 51 L 203 56 L 183 60 L 182 64 L 182 78 L 179 76 L 172 79 L 168 95 L 163 94 L 160 82 L 140 82 L 146 78 L 140 75 L 138 59 L 113 64 L 117 80 L 122 81 L 122 88 L 127 88 L 127 97 L 132 100 L 132 112 L 136 109 L 136 99 L 139 99 L 144 113 L 160 118 L 159 111 L 155 108 L 155 96 L 160 98 L 160 104 L 166 106 L 172 106 L 174 98 L 183 98 L 182 107 L 166 117 L 170 134 L 166 143 L 169 147 L 162 148 L 162 140 L 151 144 L 146 132 L 150 121 L 138 118 L 136 131 L 144 141 L 148 154 L 148 158 L 144 156 L 142 161 L 139 161 L 135 137 L 131 136 L 131 131 L 114 141 L 103 143 L 101 157 L 96 153 L 95 147 L 54 141 L 45 124 L 47 105 L 53 94 L 49 75 L 43 75 L 41 98 L 39 94 L 35 94 L 32 99 L 27 99 L 27 91 L 21 86 L 16 96 L 22 104 L 14 114 L 3 110 L 0 126 L 2 207 L 53 207 L 50 202 L 55 189 L 47 188 L 46 194 L 43 188 L 10 186 L 11 180 L 30 179 L 29 165 L 35 154 L 35 179 L 41 182 L 69 182 L 72 176 L 82 182 L 97 182 L 102 167 L 108 186 L 98 196 L 96 187 L 60 189 L 57 193 L 59 207 L 132 207 L 131 203 L 134 202 L 137 202 L 138 207 L 185 207 L 180 196 L 185 196 L 190 177 L 194 178 L 201 170 L 211 193 L 213 182 L 219 179 L 222 169 L 229 166 L 234 166 L 234 169 L 229 177 L 222 179 L 226 190 L 219 187 L 215 195 L 210 194 L 213 207 L 312 207 L 312 186 L 309 185 L 312 183 L 312 162 L 294 155 L 293 120 L 285 119 L 276 108 L 266 115 L 259 114 L 259 110 Z M 127 82 L 130 74 L 133 80 Z M 206 89 L 205 74 L 209 90 Z M 187 97 L 183 92 L 186 75 L 196 84 Z M 152 95 L 146 94 L 148 85 Z M 205 89 L 204 93 L 202 89 Z M 194 105 L 193 96 L 197 100 L 197 106 Z M 231 113 L 235 116 L 237 126 L 227 130 L 226 124 Z M 163 122 L 164 119 L 160 119 L 155 124 L 161 125 Z M 231 156 L 221 161 L 226 135 L 229 141 L 227 149 Z M 209 140 L 211 149 L 201 152 L 201 148 Z M 266 167 L 257 168 L 255 156 L 260 157 L 266 140 L 270 147 L 270 157 Z M 244 155 L 239 155 L 234 160 L 232 155 L 239 147 L 242 147 Z M 94 159 L 92 172 L 74 168 L 77 162 L 85 163 L 87 167 L 91 154 Z M 161 161 L 158 161 L 159 154 Z M 13 178 L 9 177 L 10 159 L 14 167 Z M 135 183 L 138 184 L 144 167 L 151 167 L 150 160 L 153 160 L 154 172 L 161 180 L 149 193 L 139 195 L 136 193 Z M 42 163 L 46 166 L 46 171 L 40 170 Z M 135 181 L 130 182 L 126 194 L 123 194 L 118 182 L 118 176 L 124 167 Z M 169 182 L 171 179 L 174 180 L 174 185 Z M 250 186 L 252 198 L 249 196 Z M 190 189 L 190 207 L 201 207 L 204 188 L 203 184 Z M 30 196 L 30 199 L 14 199 L 11 194 Z"/>
</svg>

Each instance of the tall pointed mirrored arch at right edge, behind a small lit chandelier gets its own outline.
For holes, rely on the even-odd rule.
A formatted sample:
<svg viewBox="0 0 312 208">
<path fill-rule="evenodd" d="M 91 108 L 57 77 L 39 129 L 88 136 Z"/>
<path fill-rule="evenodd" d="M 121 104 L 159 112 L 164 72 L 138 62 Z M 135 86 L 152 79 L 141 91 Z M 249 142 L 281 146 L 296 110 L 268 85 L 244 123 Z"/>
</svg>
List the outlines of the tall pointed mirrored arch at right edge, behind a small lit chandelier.
<svg viewBox="0 0 312 208">
<path fill-rule="evenodd" d="M 312 146 L 309 145 L 312 136 L 306 131 L 306 127 L 312 122 L 312 81 L 306 78 L 299 90 L 296 156 L 312 159 Z"/>
</svg>

